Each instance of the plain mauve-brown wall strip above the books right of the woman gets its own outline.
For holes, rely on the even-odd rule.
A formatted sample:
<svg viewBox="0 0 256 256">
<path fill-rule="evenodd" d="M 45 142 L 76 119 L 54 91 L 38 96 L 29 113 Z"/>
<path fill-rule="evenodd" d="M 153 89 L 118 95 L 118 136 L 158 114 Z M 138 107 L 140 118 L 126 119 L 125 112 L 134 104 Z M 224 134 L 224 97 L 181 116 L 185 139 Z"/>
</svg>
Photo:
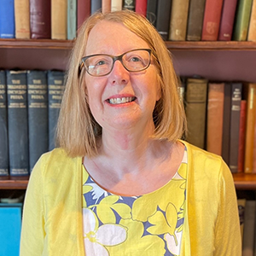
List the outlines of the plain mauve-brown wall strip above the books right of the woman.
<svg viewBox="0 0 256 256">
<path fill-rule="evenodd" d="M 256 82 L 255 50 L 170 50 L 178 75 Z"/>
</svg>

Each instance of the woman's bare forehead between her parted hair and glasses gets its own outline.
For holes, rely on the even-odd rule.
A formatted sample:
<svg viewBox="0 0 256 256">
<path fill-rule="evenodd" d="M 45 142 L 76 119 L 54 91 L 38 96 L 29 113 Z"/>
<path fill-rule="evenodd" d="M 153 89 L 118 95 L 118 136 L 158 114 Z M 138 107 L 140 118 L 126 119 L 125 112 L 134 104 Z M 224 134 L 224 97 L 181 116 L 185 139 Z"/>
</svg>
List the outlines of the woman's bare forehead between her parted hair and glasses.
<svg viewBox="0 0 256 256">
<path fill-rule="evenodd" d="M 143 38 L 138 37 L 123 24 L 102 20 L 90 31 L 85 54 L 119 55 L 127 50 L 138 48 L 148 48 Z"/>
</svg>

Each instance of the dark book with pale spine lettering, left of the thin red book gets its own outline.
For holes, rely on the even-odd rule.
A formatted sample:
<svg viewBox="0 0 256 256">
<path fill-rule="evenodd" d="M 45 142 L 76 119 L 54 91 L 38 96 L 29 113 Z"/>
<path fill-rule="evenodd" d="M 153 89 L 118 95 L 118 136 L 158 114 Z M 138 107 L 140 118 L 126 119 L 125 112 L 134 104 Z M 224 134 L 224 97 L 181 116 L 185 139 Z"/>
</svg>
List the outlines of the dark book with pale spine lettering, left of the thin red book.
<svg viewBox="0 0 256 256">
<path fill-rule="evenodd" d="M 239 129 L 241 112 L 241 83 L 231 84 L 231 113 L 230 113 L 230 171 L 238 172 Z"/>
</svg>

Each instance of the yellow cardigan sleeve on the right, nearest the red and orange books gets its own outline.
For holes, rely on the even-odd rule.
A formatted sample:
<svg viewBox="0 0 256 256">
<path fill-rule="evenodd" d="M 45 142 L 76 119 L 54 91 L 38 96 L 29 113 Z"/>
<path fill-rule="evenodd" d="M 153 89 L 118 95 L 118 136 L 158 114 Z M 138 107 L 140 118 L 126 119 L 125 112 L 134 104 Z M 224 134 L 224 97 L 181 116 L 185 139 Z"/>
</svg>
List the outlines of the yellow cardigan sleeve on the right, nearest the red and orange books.
<svg viewBox="0 0 256 256">
<path fill-rule="evenodd" d="M 241 231 L 236 189 L 230 169 L 223 161 L 219 172 L 219 204 L 215 226 L 214 255 L 240 256 Z"/>
</svg>

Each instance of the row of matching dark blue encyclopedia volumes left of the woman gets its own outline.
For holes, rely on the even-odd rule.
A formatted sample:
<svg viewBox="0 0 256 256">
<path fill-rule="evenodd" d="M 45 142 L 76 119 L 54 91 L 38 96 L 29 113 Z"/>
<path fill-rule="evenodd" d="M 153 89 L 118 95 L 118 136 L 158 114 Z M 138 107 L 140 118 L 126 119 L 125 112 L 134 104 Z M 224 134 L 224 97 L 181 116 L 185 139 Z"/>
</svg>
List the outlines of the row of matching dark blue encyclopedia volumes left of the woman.
<svg viewBox="0 0 256 256">
<path fill-rule="evenodd" d="M 65 72 L 0 71 L 0 176 L 26 177 L 55 148 Z"/>
</svg>

